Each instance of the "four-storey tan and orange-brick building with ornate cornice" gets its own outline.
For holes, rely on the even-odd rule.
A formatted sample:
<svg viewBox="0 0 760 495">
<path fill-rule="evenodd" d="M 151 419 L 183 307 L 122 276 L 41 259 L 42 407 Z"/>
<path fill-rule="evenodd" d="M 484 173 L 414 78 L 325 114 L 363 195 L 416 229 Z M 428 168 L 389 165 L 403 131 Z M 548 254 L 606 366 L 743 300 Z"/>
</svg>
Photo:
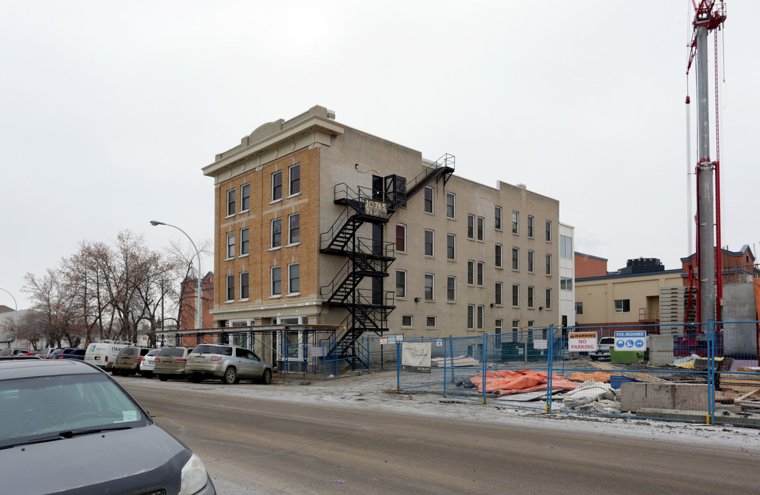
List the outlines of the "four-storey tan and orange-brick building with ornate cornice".
<svg viewBox="0 0 760 495">
<path fill-rule="evenodd" d="M 562 323 L 559 201 L 524 185 L 458 177 L 453 156 L 424 159 L 321 106 L 261 125 L 203 172 L 214 326 L 344 325 L 347 339 Z"/>
</svg>

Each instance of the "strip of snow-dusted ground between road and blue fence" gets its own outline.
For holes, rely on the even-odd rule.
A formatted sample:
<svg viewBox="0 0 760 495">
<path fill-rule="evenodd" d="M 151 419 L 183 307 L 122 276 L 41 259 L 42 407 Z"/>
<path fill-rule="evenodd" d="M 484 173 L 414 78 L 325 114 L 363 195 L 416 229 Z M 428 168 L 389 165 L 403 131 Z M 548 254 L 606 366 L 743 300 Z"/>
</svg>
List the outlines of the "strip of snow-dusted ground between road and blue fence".
<svg viewBox="0 0 760 495">
<path fill-rule="evenodd" d="M 656 421 L 645 418 L 613 418 L 581 415 L 559 411 L 561 404 L 546 413 L 540 409 L 518 408 L 511 405 L 482 404 L 477 401 L 433 396 L 418 393 L 397 393 L 395 371 L 363 374 L 337 380 L 306 383 L 283 383 L 274 380 L 271 385 L 240 383 L 224 386 L 219 382 L 189 383 L 185 381 L 160 382 L 141 378 L 135 384 L 169 389 L 195 389 L 220 396 L 239 396 L 254 399 L 272 399 L 289 402 L 306 402 L 333 405 L 340 408 L 372 409 L 389 414 L 428 415 L 455 421 L 473 421 L 503 424 L 512 427 L 533 427 L 588 433 L 609 437 L 639 437 L 658 441 L 671 441 L 711 449 L 742 449 L 760 454 L 760 429 L 733 427 L 723 424 L 707 425 L 679 421 Z M 128 386 L 128 382 L 125 383 Z M 535 406 L 534 406 L 535 407 Z"/>
</svg>

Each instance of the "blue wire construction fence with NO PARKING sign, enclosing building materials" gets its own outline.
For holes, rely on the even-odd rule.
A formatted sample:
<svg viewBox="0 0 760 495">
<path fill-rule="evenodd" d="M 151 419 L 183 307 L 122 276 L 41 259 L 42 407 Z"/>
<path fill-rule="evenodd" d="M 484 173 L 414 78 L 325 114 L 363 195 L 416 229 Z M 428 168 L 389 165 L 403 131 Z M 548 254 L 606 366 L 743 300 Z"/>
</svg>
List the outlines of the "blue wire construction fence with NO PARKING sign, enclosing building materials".
<svg viewBox="0 0 760 495">
<path fill-rule="evenodd" d="M 396 343 L 397 390 L 546 412 L 760 426 L 757 321 L 549 326 Z"/>
</svg>

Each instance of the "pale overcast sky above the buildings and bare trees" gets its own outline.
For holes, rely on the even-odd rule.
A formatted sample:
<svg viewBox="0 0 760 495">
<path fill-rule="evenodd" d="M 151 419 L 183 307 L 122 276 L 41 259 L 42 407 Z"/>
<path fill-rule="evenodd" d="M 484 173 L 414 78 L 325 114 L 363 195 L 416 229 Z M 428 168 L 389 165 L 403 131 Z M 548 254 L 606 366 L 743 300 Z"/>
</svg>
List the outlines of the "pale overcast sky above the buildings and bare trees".
<svg viewBox="0 0 760 495">
<path fill-rule="evenodd" d="M 185 241 L 151 219 L 211 239 L 201 168 L 314 105 L 426 158 L 451 153 L 457 175 L 556 198 L 576 251 L 609 270 L 678 268 L 690 5 L 0 0 L 0 288 L 27 307 L 24 273 L 123 229 L 154 249 Z M 728 0 L 727 14 L 721 207 L 738 250 L 760 246 L 760 2 Z M 13 307 L 2 291 L 0 304 Z"/>
</svg>

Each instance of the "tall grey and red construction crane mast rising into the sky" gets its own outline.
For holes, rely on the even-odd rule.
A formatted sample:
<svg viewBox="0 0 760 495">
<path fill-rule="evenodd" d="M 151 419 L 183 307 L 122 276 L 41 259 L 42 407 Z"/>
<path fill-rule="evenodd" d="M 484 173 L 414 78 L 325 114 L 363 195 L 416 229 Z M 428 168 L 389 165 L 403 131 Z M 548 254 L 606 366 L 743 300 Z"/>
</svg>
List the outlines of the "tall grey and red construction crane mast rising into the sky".
<svg viewBox="0 0 760 495">
<path fill-rule="evenodd" d="M 708 88 L 708 35 L 720 30 L 726 20 L 723 0 L 716 7 L 716 0 L 701 0 L 694 7 L 694 31 L 686 67 L 687 87 L 692 62 L 697 61 L 697 111 L 698 111 L 698 162 L 697 178 L 697 244 L 698 276 L 697 315 L 703 324 L 720 317 L 723 303 L 723 277 L 720 250 L 720 139 L 718 125 L 718 64 L 717 34 L 714 45 L 715 71 L 715 159 L 710 158 L 710 90 Z M 689 96 L 686 96 L 687 135 L 689 134 Z M 688 137 L 687 137 L 687 147 Z M 688 154 L 688 153 L 687 153 Z M 690 158 L 687 158 L 690 161 Z M 689 163 L 689 168 L 692 165 Z M 690 172 L 690 171 L 689 171 Z M 689 210 L 691 196 L 689 195 Z M 689 229 L 691 232 L 691 229 Z M 691 234 L 689 234 L 691 237 Z M 717 245 L 717 249 L 715 246 Z M 717 273 L 717 277 L 716 277 Z M 691 292 L 690 292 L 691 298 Z"/>
</svg>

